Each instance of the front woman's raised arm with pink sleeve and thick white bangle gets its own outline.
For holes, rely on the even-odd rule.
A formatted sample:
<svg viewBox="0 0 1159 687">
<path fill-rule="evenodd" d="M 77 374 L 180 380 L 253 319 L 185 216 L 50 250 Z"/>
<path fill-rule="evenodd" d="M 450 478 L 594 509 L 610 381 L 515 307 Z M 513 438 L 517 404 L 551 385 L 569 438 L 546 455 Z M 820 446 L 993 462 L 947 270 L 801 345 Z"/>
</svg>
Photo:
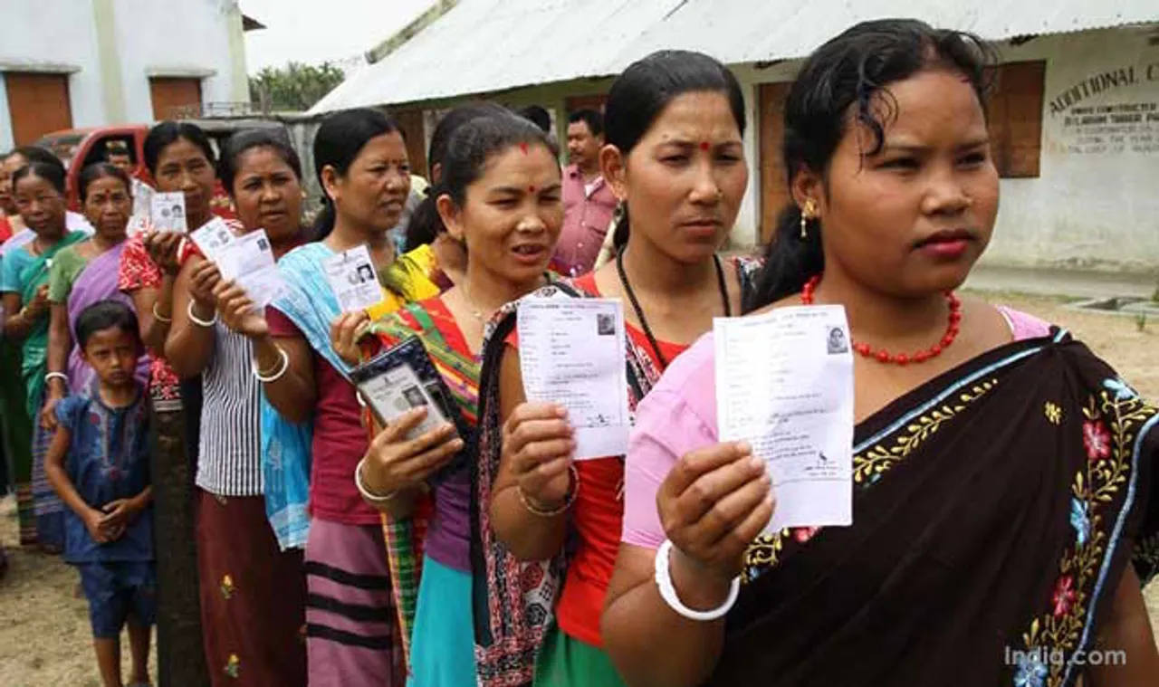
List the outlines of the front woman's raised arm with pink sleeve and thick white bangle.
<svg viewBox="0 0 1159 687">
<path fill-rule="evenodd" d="M 751 447 L 716 444 L 678 395 L 653 389 L 637 409 L 600 622 L 627 685 L 692 687 L 712 675 L 745 551 L 773 514 L 771 489 Z"/>
</svg>

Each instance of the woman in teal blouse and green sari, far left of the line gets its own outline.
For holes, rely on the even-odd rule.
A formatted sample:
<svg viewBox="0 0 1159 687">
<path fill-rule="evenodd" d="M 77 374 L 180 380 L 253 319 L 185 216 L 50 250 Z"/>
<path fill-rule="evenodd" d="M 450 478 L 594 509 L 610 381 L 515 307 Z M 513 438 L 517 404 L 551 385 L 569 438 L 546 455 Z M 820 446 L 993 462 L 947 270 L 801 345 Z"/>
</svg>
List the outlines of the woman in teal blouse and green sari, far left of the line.
<svg viewBox="0 0 1159 687">
<path fill-rule="evenodd" d="M 38 161 L 22 167 L 13 175 L 13 191 L 20 214 L 35 235 L 24 246 L 7 251 L 3 273 L 0 275 L 5 336 L 22 342 L 24 412 L 31 422 L 32 436 L 31 463 L 21 460 L 20 454 L 13 456 L 16 462 L 17 507 L 25 513 L 21 519 L 21 541 L 32 540 L 45 551 L 59 553 L 64 547 L 64 505 L 44 475 L 44 456 L 52 433 L 39 423 L 46 397 L 49 270 L 57 254 L 87 236 L 66 228 L 65 168 L 60 162 Z M 28 498 L 29 487 L 31 502 Z M 21 491 L 24 498 L 20 498 Z M 30 527 L 34 520 L 28 514 L 29 506 L 35 512 L 35 529 Z"/>
</svg>

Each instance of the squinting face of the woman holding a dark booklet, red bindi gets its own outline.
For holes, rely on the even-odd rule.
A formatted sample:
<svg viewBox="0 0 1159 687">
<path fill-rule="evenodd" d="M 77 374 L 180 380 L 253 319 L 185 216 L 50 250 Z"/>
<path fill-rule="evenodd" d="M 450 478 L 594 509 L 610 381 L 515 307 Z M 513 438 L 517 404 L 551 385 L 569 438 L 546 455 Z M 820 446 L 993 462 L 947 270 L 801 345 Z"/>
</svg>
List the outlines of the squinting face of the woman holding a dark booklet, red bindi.
<svg viewBox="0 0 1159 687">
<path fill-rule="evenodd" d="M 461 209 L 438 199 L 447 232 L 467 244 L 467 263 L 512 284 L 542 276 L 563 225 L 560 163 L 542 144 L 488 158 Z"/>
</svg>

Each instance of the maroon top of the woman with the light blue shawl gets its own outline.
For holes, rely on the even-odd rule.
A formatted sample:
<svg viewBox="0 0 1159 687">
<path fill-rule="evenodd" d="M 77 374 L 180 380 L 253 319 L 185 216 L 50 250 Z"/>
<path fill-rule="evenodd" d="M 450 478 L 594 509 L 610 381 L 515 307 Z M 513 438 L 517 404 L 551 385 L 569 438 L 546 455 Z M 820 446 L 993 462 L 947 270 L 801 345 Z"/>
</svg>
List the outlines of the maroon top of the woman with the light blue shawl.
<svg viewBox="0 0 1159 687">
<path fill-rule="evenodd" d="M 305 338 L 298 326 L 276 308 L 265 308 L 275 337 Z M 311 446 L 309 512 L 341 525 L 379 525 L 378 511 L 366 505 L 355 487 L 355 468 L 369 440 L 355 387 L 330 363 L 314 353 L 314 441 Z"/>
</svg>

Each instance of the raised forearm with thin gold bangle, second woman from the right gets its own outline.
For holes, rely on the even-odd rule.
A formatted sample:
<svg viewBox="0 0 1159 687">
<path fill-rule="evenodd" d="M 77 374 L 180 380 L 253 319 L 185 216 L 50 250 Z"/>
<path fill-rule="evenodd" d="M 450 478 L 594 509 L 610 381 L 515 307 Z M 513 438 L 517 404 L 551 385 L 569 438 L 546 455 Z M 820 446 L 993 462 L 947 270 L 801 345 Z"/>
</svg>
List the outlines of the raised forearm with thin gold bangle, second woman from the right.
<svg viewBox="0 0 1159 687">
<path fill-rule="evenodd" d="M 491 527 L 516 557 L 553 558 L 563 548 L 567 512 L 580 488 L 574 431 L 562 408 L 527 403 L 519 352 L 510 345 L 500 364 L 500 415 L 503 450 Z"/>
</svg>

